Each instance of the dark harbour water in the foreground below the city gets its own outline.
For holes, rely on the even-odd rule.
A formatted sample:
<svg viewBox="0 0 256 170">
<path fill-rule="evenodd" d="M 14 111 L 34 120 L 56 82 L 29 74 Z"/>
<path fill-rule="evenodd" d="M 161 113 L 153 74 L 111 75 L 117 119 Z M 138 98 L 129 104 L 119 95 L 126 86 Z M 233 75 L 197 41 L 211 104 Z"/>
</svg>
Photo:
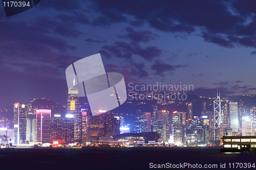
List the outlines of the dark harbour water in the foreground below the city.
<svg viewBox="0 0 256 170">
<path fill-rule="evenodd" d="M 162 164 L 166 163 L 218 165 L 214 169 L 224 169 L 225 164 L 225 169 L 233 169 L 237 164 L 232 163 L 255 163 L 256 166 L 256 154 L 220 153 L 220 148 L 215 147 L 0 149 L 1 169 L 154 169 L 151 167 L 159 167 L 158 164 L 164 167 Z M 199 169 L 199 166 L 190 167 L 172 169 Z M 241 167 L 239 169 L 256 169 Z"/>
</svg>

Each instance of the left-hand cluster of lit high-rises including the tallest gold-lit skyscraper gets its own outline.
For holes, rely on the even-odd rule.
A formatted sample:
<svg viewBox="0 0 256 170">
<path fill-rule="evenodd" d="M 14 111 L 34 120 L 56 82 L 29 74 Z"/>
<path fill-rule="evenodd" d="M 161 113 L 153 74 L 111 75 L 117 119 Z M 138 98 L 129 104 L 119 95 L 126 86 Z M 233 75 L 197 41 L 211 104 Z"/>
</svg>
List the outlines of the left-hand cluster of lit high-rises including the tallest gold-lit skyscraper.
<svg viewBox="0 0 256 170">
<path fill-rule="evenodd" d="M 120 117 L 104 112 L 91 116 L 88 108 L 79 105 L 76 87 L 69 89 L 67 106 L 65 113 L 52 114 L 51 109 L 34 108 L 32 103 L 15 103 L 13 126 L 0 119 L 0 142 L 88 143 L 107 133 L 120 133 Z"/>
</svg>

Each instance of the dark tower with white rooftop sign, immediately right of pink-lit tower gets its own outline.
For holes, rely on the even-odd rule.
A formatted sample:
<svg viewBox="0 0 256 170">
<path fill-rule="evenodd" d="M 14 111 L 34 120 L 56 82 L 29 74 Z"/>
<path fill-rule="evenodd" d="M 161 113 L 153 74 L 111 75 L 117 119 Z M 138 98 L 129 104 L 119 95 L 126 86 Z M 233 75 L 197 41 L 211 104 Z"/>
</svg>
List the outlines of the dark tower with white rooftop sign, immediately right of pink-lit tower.
<svg viewBox="0 0 256 170">
<path fill-rule="evenodd" d="M 60 114 L 54 114 L 54 116 L 51 117 L 51 142 L 64 140 L 63 120 Z"/>
</svg>

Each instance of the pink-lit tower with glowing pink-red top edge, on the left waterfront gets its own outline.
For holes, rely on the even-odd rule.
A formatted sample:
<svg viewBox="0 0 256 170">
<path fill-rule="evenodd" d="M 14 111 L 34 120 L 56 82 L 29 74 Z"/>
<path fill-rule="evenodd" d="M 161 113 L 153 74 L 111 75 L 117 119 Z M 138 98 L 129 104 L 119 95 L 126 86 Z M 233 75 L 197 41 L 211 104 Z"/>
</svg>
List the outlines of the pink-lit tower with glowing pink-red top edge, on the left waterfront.
<svg viewBox="0 0 256 170">
<path fill-rule="evenodd" d="M 50 142 L 51 110 L 36 110 L 37 118 L 37 141 L 42 143 Z"/>
</svg>

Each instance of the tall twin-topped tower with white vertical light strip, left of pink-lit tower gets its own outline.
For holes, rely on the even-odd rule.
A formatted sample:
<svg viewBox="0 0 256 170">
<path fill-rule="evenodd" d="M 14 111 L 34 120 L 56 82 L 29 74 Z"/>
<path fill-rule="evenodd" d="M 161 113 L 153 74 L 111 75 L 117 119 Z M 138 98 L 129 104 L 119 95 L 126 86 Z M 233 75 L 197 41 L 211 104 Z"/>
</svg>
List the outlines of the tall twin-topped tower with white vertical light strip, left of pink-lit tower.
<svg viewBox="0 0 256 170">
<path fill-rule="evenodd" d="M 27 127 L 27 105 L 23 103 L 14 104 L 14 143 L 26 142 Z"/>
</svg>

